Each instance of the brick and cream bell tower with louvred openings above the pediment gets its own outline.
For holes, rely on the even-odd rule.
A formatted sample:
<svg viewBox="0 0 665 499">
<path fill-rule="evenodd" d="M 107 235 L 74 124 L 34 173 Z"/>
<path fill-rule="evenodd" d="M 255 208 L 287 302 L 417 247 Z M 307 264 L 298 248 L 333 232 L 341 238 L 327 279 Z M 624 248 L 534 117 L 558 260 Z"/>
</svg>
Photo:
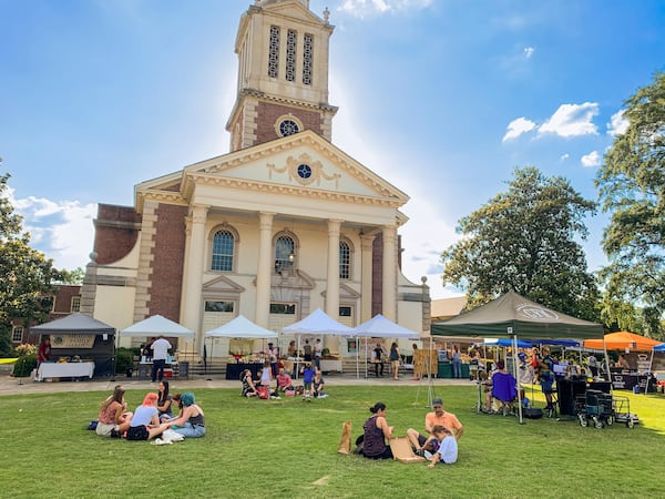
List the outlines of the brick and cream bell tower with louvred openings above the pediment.
<svg viewBox="0 0 665 499">
<path fill-rule="evenodd" d="M 331 141 L 328 18 L 327 9 L 314 14 L 309 0 L 255 0 L 243 14 L 237 95 L 226 124 L 232 152 L 303 130 Z"/>
</svg>

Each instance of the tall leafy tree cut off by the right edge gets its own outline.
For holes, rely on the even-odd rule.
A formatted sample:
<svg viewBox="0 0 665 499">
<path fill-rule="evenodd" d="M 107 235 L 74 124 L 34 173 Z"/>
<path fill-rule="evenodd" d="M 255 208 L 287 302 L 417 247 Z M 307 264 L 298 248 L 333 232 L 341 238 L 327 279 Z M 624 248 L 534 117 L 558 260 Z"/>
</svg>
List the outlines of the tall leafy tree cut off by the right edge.
<svg viewBox="0 0 665 499">
<path fill-rule="evenodd" d="M 598 169 L 603 234 L 610 264 L 600 273 L 605 314 L 618 318 L 617 302 L 642 304 L 644 334 L 657 337 L 665 312 L 665 73 L 625 101 L 625 133 L 615 138 Z"/>
</svg>

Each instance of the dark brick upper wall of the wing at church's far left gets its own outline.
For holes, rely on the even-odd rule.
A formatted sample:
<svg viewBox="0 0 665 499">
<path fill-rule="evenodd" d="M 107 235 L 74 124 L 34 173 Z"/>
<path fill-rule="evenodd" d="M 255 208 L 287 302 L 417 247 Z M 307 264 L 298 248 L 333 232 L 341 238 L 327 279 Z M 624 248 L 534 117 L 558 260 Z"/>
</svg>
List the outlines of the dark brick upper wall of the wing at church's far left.
<svg viewBox="0 0 665 499">
<path fill-rule="evenodd" d="M 119 261 L 134 247 L 139 237 L 141 214 L 132 206 L 115 206 L 100 203 L 94 221 L 94 251 L 96 262 L 106 265 Z"/>
</svg>

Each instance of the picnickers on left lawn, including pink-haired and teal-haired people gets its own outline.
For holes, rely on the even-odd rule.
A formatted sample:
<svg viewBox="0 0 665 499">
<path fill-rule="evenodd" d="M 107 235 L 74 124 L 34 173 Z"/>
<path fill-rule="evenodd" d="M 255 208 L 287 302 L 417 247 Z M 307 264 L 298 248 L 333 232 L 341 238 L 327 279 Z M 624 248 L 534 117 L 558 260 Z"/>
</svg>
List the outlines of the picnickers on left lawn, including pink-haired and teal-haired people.
<svg viewBox="0 0 665 499">
<path fill-rule="evenodd" d="M 205 435 L 205 415 L 193 393 L 171 396 L 168 381 L 162 380 L 158 393 L 146 394 L 133 413 L 127 410 L 124 394 L 125 388 L 117 385 L 102 403 L 95 428 L 100 437 L 152 440 L 168 429 L 184 438 Z"/>
</svg>

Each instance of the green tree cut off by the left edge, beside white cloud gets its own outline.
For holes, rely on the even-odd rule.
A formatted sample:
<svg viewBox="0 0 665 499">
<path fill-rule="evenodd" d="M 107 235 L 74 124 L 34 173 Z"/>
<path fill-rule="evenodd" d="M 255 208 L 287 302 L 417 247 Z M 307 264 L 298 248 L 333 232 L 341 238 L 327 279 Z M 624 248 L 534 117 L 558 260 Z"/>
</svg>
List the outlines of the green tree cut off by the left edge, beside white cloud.
<svg viewBox="0 0 665 499">
<path fill-rule="evenodd" d="M 43 320 L 52 306 L 51 283 L 62 278 L 51 259 L 30 247 L 22 217 L 6 195 L 9 176 L 0 176 L 0 334 L 4 336 L 11 333 L 12 319 L 21 319 L 25 327 Z"/>
</svg>

